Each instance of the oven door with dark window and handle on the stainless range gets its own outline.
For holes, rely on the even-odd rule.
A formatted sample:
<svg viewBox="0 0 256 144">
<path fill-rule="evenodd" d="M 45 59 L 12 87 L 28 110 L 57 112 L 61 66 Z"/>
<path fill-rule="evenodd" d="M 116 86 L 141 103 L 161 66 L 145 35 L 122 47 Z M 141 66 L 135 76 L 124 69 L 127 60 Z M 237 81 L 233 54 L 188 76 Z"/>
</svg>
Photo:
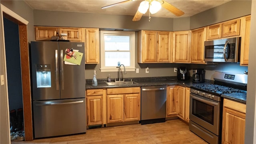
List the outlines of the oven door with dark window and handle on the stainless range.
<svg viewBox="0 0 256 144">
<path fill-rule="evenodd" d="M 190 93 L 190 120 L 218 136 L 222 122 L 220 105 L 220 102 Z"/>
</svg>

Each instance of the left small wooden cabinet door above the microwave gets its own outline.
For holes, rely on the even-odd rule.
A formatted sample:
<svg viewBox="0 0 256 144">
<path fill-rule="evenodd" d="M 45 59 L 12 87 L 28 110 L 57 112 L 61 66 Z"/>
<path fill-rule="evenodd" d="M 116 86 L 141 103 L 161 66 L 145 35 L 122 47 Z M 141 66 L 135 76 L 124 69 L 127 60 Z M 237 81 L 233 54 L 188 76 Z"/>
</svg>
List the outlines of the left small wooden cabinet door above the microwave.
<svg viewBox="0 0 256 144">
<path fill-rule="evenodd" d="M 207 26 L 207 40 L 221 38 L 221 24 Z"/>
</svg>

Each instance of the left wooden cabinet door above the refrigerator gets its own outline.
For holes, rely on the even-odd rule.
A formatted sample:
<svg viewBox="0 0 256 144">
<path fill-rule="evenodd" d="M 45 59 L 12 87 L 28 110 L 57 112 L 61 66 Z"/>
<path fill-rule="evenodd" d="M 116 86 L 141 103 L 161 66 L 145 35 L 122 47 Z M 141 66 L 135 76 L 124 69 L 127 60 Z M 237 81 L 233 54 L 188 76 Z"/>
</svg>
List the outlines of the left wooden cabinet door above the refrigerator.
<svg viewBox="0 0 256 144">
<path fill-rule="evenodd" d="M 58 28 L 54 27 L 35 27 L 36 40 L 51 40 L 52 36 L 58 36 Z"/>
</svg>

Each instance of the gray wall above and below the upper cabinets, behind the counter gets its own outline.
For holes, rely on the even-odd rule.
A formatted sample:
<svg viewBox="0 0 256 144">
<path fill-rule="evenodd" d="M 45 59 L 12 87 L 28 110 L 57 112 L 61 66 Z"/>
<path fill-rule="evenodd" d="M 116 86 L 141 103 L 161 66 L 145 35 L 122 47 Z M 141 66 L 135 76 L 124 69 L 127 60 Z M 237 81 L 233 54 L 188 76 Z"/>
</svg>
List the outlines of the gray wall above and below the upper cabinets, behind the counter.
<svg viewBox="0 0 256 144">
<path fill-rule="evenodd" d="M 224 6 L 218 6 L 201 12 L 195 16 L 184 18 L 152 18 L 148 22 L 147 16 L 142 16 L 138 22 L 132 22 L 133 16 L 104 15 L 104 14 L 88 14 L 78 12 L 53 12 L 45 10 L 34 10 L 35 26 L 69 26 L 69 27 L 87 27 L 87 28 L 113 28 L 128 30 L 191 30 L 194 28 L 214 24 L 241 17 L 250 14 L 251 1 L 232 0 Z M 233 12 L 235 10 L 235 12 Z M 209 16 L 210 15 L 210 16 Z M 218 16 L 218 18 L 216 18 Z M 115 23 L 113 23 L 115 22 Z M 137 52 L 137 33 L 136 33 L 136 52 Z M 137 54 L 136 54 L 137 56 Z M 152 76 L 176 76 L 174 67 L 184 66 L 185 64 L 138 64 L 136 57 L 136 68 L 140 69 L 140 73 L 127 72 L 125 78 L 130 77 L 152 77 Z M 193 65 L 192 68 L 205 68 L 206 78 L 212 79 L 214 68 L 216 70 L 227 71 L 229 64 L 222 66 L 206 66 Z M 149 67 L 149 73 L 145 73 L 145 68 Z M 240 73 L 247 71 L 247 67 L 241 67 L 239 64 L 232 64 L 232 68 L 237 69 Z M 97 70 L 97 78 L 107 78 L 108 74 L 112 78 L 117 77 L 117 72 L 100 72 L 100 64 L 86 64 L 86 79 L 93 78 L 93 70 Z M 209 74 L 209 75 L 208 75 Z M 190 75 L 191 72 L 190 72 Z M 212 79 L 213 80 L 213 79 Z"/>
</svg>

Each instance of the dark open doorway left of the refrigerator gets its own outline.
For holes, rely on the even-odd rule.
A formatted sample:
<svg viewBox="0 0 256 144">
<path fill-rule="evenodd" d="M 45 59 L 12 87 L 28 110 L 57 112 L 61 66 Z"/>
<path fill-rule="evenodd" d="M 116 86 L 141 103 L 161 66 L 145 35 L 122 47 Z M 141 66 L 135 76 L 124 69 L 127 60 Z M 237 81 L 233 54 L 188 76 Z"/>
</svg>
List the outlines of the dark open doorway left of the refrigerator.
<svg viewBox="0 0 256 144">
<path fill-rule="evenodd" d="M 24 140 L 22 79 L 18 24 L 4 17 L 6 71 L 10 110 L 11 141 Z"/>
</svg>

